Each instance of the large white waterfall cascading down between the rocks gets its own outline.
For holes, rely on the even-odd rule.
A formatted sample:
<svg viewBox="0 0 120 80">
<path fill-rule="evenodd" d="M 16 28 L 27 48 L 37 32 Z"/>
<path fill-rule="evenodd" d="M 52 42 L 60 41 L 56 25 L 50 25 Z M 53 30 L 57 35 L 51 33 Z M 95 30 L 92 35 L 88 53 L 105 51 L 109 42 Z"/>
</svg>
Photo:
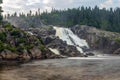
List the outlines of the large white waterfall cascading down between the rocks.
<svg viewBox="0 0 120 80">
<path fill-rule="evenodd" d="M 69 28 L 62 28 L 56 26 L 54 26 L 53 28 L 56 30 L 56 36 L 58 36 L 61 40 L 66 41 L 68 45 L 75 46 L 77 50 L 81 53 L 84 53 L 82 47 L 89 48 L 86 40 L 80 39 Z"/>
</svg>

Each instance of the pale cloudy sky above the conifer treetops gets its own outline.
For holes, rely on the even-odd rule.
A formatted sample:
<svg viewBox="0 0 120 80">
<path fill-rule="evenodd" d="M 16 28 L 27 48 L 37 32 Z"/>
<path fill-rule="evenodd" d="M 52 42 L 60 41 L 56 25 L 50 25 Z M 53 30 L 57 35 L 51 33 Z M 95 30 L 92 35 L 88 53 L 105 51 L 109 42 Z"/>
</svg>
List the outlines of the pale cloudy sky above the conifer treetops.
<svg viewBox="0 0 120 80">
<path fill-rule="evenodd" d="M 35 11 L 38 8 L 51 11 L 52 7 L 56 9 L 73 8 L 80 6 L 95 5 L 100 8 L 120 7 L 120 0 L 3 0 L 4 14 L 14 12 Z"/>
</svg>

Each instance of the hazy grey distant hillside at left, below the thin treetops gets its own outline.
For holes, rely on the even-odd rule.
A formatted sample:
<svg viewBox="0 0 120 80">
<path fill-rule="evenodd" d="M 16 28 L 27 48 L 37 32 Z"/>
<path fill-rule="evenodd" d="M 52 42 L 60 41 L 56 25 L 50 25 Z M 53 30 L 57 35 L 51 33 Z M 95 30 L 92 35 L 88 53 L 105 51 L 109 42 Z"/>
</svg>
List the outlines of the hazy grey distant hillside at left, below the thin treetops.
<svg viewBox="0 0 120 80">
<path fill-rule="evenodd" d="M 27 28 L 35 28 L 35 27 L 42 27 L 43 24 L 39 17 L 35 16 L 11 16 L 7 19 L 8 22 L 15 25 L 18 28 L 27 29 Z"/>
</svg>

